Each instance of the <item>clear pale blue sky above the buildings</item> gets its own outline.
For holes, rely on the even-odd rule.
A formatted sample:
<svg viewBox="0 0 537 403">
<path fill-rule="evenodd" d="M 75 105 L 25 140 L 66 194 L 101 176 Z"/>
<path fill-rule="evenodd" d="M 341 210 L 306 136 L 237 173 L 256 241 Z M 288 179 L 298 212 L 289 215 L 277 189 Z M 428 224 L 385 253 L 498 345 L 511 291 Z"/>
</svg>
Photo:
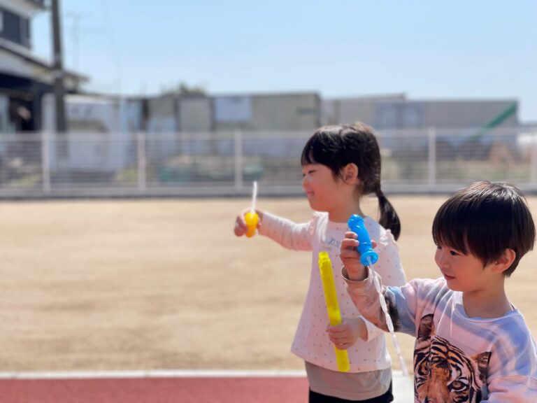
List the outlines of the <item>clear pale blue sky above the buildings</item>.
<svg viewBox="0 0 537 403">
<path fill-rule="evenodd" d="M 61 0 L 64 65 L 88 90 L 317 91 L 518 99 L 537 122 L 537 1 Z M 78 41 L 75 29 L 78 27 Z M 50 58 L 50 15 L 34 17 Z M 77 44 L 78 43 L 78 44 Z"/>
</svg>

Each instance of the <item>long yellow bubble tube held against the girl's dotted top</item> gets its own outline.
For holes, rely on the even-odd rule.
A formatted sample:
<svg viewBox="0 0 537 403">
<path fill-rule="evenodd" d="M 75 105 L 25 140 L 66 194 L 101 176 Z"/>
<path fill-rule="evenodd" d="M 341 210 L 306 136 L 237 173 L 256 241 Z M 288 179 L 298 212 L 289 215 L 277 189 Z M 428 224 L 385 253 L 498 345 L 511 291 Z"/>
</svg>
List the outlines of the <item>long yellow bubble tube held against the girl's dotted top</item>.
<svg viewBox="0 0 537 403">
<path fill-rule="evenodd" d="M 332 264 L 330 262 L 330 257 L 326 252 L 319 253 L 319 270 L 321 273 L 322 288 L 324 290 L 324 300 L 327 302 L 328 319 L 331 326 L 336 326 L 341 323 L 341 313 L 339 311 L 334 274 L 332 274 Z M 340 350 L 334 344 L 334 352 L 336 353 L 338 369 L 341 372 L 348 372 L 350 364 L 347 351 Z"/>
</svg>

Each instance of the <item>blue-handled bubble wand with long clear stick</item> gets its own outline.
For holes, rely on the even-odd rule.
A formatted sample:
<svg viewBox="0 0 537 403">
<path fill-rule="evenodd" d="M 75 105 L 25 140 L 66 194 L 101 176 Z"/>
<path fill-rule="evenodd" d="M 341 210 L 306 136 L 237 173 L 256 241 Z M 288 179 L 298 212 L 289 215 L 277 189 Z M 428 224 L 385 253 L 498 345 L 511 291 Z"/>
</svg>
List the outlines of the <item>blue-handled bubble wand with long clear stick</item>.
<svg viewBox="0 0 537 403">
<path fill-rule="evenodd" d="M 360 253 L 360 263 L 364 266 L 369 266 L 373 270 L 373 264 L 378 260 L 378 253 L 373 250 L 371 246 L 371 238 L 367 232 L 366 226 L 364 225 L 364 218 L 361 218 L 359 215 L 353 214 L 350 216 L 348 221 L 349 228 L 352 232 L 355 232 L 358 236 L 358 251 Z M 403 355 L 401 354 L 401 347 L 399 347 L 399 341 L 394 332 L 394 323 L 392 318 L 389 316 L 388 308 L 386 306 L 386 301 L 382 295 L 382 290 L 380 288 L 380 283 L 378 278 L 373 276 L 373 283 L 375 284 L 375 290 L 378 292 L 378 299 L 380 300 L 380 306 L 384 312 L 386 318 L 386 325 L 388 327 L 389 333 L 392 334 L 392 340 L 394 341 L 395 351 L 399 357 L 399 362 L 401 364 L 401 372 L 405 376 L 408 376 L 408 371 L 406 369 L 405 360 L 403 360 Z"/>
</svg>

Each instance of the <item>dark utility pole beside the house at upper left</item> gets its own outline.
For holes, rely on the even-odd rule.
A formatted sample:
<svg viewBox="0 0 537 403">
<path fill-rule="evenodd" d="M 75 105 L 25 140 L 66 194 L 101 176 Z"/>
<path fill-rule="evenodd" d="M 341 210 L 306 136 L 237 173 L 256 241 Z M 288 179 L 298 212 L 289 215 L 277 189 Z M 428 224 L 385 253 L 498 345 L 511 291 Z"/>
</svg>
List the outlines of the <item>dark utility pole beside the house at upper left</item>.
<svg viewBox="0 0 537 403">
<path fill-rule="evenodd" d="M 54 62 L 52 66 L 52 73 L 54 75 L 54 88 L 56 95 L 56 131 L 58 133 L 65 133 L 67 130 L 65 120 L 65 100 L 64 100 L 64 69 L 62 66 L 62 37 L 61 27 L 59 22 L 59 0 L 52 0 L 52 40 L 53 40 L 53 55 Z M 63 136 L 62 136 L 63 137 Z M 67 157 L 67 139 L 59 141 L 58 151 L 62 157 Z"/>
</svg>

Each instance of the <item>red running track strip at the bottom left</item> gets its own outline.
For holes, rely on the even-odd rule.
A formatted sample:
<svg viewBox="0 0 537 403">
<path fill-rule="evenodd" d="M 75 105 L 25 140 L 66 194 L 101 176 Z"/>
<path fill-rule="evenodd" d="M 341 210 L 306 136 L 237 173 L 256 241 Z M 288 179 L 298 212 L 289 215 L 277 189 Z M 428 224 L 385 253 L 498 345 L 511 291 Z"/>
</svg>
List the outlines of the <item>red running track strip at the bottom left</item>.
<svg viewBox="0 0 537 403">
<path fill-rule="evenodd" d="M 0 403 L 306 403 L 304 377 L 0 379 Z"/>
</svg>

